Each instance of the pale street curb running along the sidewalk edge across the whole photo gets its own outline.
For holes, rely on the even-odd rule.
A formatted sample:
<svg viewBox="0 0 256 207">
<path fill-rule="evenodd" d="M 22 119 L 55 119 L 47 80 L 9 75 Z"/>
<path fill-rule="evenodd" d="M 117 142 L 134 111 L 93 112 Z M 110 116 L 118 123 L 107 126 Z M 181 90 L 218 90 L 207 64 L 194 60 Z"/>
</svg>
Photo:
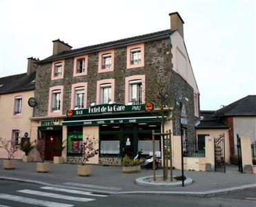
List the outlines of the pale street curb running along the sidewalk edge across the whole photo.
<svg viewBox="0 0 256 207">
<path fill-rule="evenodd" d="M 19 181 L 29 184 L 38 184 L 43 186 L 52 186 L 52 187 L 59 187 L 59 188 L 70 188 L 70 189 L 77 189 L 77 190 L 88 190 L 92 193 L 101 193 L 103 195 L 176 195 L 176 196 L 190 196 L 190 197 L 214 197 L 216 195 L 223 195 L 227 193 L 235 193 L 243 190 L 253 190 L 256 189 L 256 184 L 249 184 L 244 186 L 237 186 L 233 188 L 222 188 L 217 190 L 208 190 L 204 192 L 197 192 L 197 191 L 144 191 L 144 190 L 137 190 L 137 191 L 124 191 L 124 192 L 117 192 L 117 191 L 107 191 L 107 190 L 95 190 L 92 188 L 79 188 L 79 187 L 72 187 L 72 186 L 63 186 L 58 184 L 49 184 L 43 181 L 31 180 L 31 179 L 19 179 L 14 177 L 3 177 L 0 176 L 2 180 L 10 180 L 10 181 Z"/>
</svg>

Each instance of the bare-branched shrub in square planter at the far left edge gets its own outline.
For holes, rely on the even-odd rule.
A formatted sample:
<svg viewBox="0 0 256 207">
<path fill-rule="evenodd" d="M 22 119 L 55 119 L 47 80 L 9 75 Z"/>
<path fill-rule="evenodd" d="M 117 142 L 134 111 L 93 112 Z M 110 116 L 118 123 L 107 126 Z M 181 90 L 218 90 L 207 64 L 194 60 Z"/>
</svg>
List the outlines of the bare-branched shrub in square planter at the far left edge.
<svg viewBox="0 0 256 207">
<path fill-rule="evenodd" d="M 6 170 L 14 169 L 15 163 L 12 157 L 19 150 L 19 143 L 16 143 L 13 139 L 3 139 L 0 137 L 0 144 L 0 147 L 4 148 L 8 153 L 8 159 L 3 160 L 3 168 Z"/>
</svg>

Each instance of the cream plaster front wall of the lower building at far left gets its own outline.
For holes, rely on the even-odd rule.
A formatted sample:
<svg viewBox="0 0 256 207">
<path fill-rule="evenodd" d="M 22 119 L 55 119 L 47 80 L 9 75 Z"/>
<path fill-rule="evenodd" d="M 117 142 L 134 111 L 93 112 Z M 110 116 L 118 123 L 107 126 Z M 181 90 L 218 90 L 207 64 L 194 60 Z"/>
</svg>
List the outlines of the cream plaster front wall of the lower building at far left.
<svg viewBox="0 0 256 207">
<path fill-rule="evenodd" d="M 21 115 L 14 116 L 15 97 L 22 97 Z M 19 137 L 28 132 L 30 137 L 33 108 L 28 106 L 28 99 L 34 97 L 34 91 L 17 92 L 7 95 L 0 95 L 0 137 L 12 139 L 13 130 L 19 130 Z M 14 159 L 21 159 L 22 151 L 15 152 Z M 0 158 L 7 158 L 8 153 L 0 148 Z"/>
</svg>

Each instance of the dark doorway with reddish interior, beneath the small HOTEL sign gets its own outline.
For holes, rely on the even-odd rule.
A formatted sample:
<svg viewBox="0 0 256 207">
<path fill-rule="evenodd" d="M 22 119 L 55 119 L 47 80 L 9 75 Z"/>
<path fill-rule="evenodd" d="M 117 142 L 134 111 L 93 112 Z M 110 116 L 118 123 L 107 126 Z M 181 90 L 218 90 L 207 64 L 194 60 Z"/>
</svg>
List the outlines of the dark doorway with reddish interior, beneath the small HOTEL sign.
<svg viewBox="0 0 256 207">
<path fill-rule="evenodd" d="M 62 143 L 60 130 L 49 130 L 44 132 L 46 140 L 45 160 L 53 160 L 55 156 L 61 156 L 61 152 L 56 151 L 57 144 Z"/>
</svg>

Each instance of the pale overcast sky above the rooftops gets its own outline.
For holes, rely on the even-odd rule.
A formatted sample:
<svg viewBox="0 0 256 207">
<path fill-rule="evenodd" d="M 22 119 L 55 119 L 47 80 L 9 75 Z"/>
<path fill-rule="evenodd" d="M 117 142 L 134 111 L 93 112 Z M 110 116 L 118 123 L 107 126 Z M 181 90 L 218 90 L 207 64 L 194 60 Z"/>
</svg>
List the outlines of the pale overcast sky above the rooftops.
<svg viewBox="0 0 256 207">
<path fill-rule="evenodd" d="M 179 12 L 201 110 L 255 95 L 255 0 L 0 0 L 0 77 L 26 72 L 27 58 L 170 28 Z"/>
</svg>

